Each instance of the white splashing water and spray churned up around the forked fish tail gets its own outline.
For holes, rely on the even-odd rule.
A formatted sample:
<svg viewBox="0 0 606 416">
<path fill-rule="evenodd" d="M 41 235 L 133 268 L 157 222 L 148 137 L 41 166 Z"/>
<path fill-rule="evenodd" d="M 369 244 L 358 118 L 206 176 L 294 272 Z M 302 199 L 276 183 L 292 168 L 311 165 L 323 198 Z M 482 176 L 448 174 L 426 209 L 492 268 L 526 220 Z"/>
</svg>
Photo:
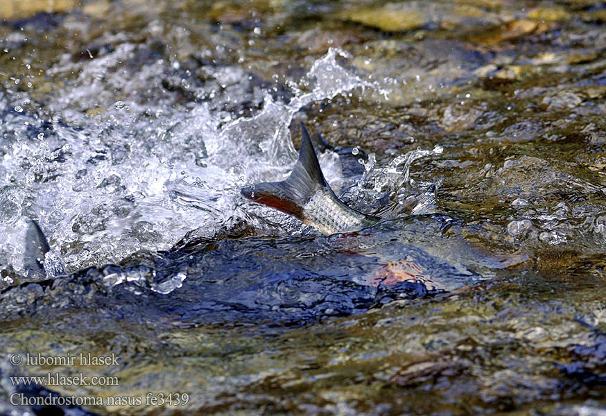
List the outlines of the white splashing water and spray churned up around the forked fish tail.
<svg viewBox="0 0 606 416">
<path fill-rule="evenodd" d="M 119 53 L 128 51 L 112 58 Z M 62 117 L 14 110 L 10 95 L 0 95 L 0 112 L 6 114 L 0 126 L 0 263 L 21 269 L 26 217 L 40 222 L 57 250 L 50 255 L 61 257 L 68 270 L 119 261 L 141 249 L 165 250 L 191 229 L 215 236 L 249 223 L 309 232 L 288 216 L 245 202 L 239 190 L 286 177 L 296 159 L 288 125 L 302 107 L 376 88 L 340 65 L 339 55 L 345 53 L 331 49 L 316 60 L 300 83 L 291 85 L 294 96 L 287 103 L 264 93 L 261 110 L 250 117 L 226 117 L 207 103 L 185 110 L 127 99 L 101 116 L 69 110 L 70 102 L 105 94 L 107 83 L 123 81 L 116 71 L 105 75 L 114 78 L 98 82 L 95 74 L 112 68 L 110 58 L 83 64 L 66 94 L 49 105 L 65 105 Z M 69 70 L 69 63 L 51 69 Z M 135 88 L 159 72 L 150 69 L 128 82 Z M 88 79 L 92 83 L 83 87 Z M 372 197 L 370 190 L 409 184 L 410 163 L 430 153 L 416 150 L 383 168 L 369 160 L 372 166 L 358 187 L 361 198 Z M 324 153 L 320 161 L 329 181 L 342 179 L 336 154 Z"/>
</svg>

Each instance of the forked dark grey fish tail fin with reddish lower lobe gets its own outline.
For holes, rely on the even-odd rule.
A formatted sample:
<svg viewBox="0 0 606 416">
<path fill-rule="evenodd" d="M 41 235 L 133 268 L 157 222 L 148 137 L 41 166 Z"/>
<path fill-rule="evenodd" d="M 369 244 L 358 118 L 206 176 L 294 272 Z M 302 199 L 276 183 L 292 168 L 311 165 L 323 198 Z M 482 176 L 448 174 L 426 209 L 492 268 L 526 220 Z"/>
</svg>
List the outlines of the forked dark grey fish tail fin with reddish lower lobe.
<svg viewBox="0 0 606 416">
<path fill-rule="evenodd" d="M 246 198 L 297 218 L 301 217 L 303 206 L 316 190 L 322 187 L 329 188 L 320 169 L 318 157 L 313 150 L 311 137 L 303 123 L 301 123 L 301 130 L 299 159 L 288 179 L 281 182 L 263 182 L 254 187 L 244 187 L 241 190 L 242 195 Z"/>
</svg>

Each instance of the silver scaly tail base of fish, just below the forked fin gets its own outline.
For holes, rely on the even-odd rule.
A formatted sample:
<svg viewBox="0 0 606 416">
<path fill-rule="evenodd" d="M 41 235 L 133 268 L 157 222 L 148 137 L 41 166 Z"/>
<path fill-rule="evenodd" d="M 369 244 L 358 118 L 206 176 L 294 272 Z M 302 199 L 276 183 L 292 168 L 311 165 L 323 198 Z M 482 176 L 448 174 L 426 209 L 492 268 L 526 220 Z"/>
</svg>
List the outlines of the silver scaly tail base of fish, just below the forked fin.
<svg viewBox="0 0 606 416">
<path fill-rule="evenodd" d="M 320 229 L 324 234 L 359 229 L 364 220 L 364 214 L 343 207 L 330 193 L 323 190 L 315 192 L 303 207 L 303 222 Z"/>
</svg>

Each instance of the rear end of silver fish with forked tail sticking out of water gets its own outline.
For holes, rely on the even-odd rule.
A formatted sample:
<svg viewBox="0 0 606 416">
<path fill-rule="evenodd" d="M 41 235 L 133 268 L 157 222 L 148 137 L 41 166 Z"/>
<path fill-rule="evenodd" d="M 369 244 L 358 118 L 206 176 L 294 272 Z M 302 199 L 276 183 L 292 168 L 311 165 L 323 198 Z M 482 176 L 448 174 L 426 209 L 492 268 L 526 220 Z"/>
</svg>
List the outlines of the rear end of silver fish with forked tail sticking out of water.
<svg viewBox="0 0 606 416">
<path fill-rule="evenodd" d="M 378 223 L 381 218 L 348 207 L 335 195 L 324 179 L 303 123 L 301 131 L 299 159 L 288 179 L 243 187 L 242 195 L 291 215 L 326 235 L 356 232 Z"/>
</svg>

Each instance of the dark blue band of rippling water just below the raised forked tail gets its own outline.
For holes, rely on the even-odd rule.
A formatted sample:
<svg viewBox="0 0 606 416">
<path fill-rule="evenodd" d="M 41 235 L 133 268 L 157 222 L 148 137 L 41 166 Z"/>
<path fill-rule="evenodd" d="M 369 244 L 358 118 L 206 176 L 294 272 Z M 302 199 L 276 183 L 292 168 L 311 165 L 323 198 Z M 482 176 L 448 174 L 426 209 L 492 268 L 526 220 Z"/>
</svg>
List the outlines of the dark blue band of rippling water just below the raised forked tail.
<svg viewBox="0 0 606 416">
<path fill-rule="evenodd" d="M 482 263 L 503 267 L 460 241 L 427 233 L 449 222 L 410 217 L 359 234 L 306 238 L 205 239 L 191 232 L 168 252 L 139 252 L 119 266 L 8 288 L 0 311 L 5 320 L 53 309 L 97 309 L 152 326 L 307 324 L 456 290 L 491 277 L 474 270 Z M 430 254 L 446 254 L 445 248 L 455 250 L 450 262 Z"/>
</svg>

